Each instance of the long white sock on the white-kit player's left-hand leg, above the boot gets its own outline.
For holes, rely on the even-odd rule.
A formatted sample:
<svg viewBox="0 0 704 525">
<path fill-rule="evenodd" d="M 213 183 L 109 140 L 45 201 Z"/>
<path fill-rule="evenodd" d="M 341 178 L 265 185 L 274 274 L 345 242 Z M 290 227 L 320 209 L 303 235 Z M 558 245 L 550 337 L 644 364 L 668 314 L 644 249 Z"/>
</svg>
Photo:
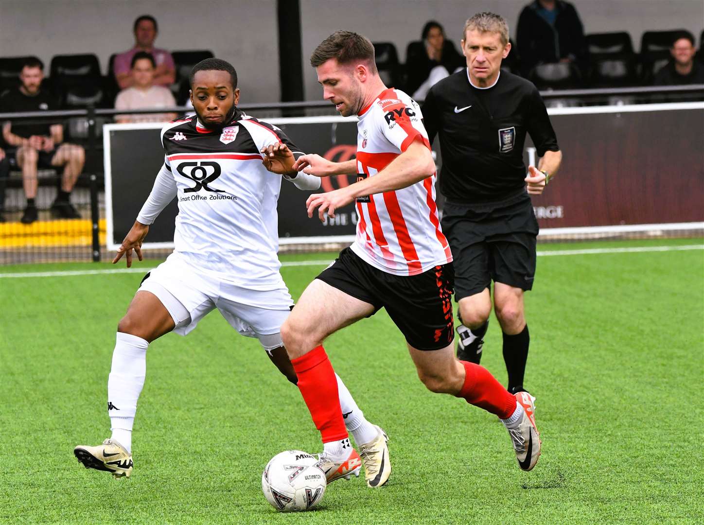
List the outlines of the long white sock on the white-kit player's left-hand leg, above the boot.
<svg viewBox="0 0 704 525">
<path fill-rule="evenodd" d="M 132 424 L 137 400 L 144 386 L 146 348 L 144 339 L 118 332 L 113 365 L 108 377 L 108 416 L 114 439 L 132 453 Z"/>
</svg>

